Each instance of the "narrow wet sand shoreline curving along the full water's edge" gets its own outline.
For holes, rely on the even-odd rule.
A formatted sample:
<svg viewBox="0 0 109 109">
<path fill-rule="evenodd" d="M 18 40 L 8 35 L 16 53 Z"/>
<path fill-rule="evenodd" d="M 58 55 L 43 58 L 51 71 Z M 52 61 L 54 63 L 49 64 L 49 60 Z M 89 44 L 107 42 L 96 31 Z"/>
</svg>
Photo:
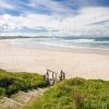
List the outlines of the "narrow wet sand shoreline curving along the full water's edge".
<svg viewBox="0 0 109 109">
<path fill-rule="evenodd" d="M 5 39 L 0 39 L 0 41 L 3 41 L 5 45 L 9 45 L 11 47 L 15 48 L 22 48 L 22 49 L 46 49 L 46 50 L 53 50 L 53 51 L 68 51 L 68 52 L 83 52 L 83 53 L 98 53 L 98 55 L 107 55 L 109 53 L 109 49 L 107 48 L 93 48 L 93 47 L 56 47 L 56 46 L 47 46 L 47 45 L 37 45 L 35 47 L 24 47 L 24 46 L 16 46 L 12 45 L 10 43 L 4 41 Z"/>
</svg>

